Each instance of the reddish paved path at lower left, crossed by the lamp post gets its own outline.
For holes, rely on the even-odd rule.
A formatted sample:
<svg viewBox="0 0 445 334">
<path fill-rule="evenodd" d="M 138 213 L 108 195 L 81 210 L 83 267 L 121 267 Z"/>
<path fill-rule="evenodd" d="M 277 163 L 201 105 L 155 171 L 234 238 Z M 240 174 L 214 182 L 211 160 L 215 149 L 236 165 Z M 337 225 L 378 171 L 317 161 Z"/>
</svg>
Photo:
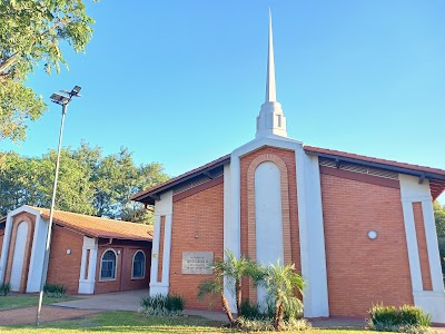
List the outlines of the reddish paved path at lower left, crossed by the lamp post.
<svg viewBox="0 0 445 334">
<path fill-rule="evenodd" d="M 37 306 L 0 311 L 0 326 L 32 324 L 36 322 L 36 312 Z M 41 322 L 43 323 L 83 317 L 98 312 L 99 311 L 92 310 L 71 310 L 55 306 L 42 306 Z"/>
</svg>

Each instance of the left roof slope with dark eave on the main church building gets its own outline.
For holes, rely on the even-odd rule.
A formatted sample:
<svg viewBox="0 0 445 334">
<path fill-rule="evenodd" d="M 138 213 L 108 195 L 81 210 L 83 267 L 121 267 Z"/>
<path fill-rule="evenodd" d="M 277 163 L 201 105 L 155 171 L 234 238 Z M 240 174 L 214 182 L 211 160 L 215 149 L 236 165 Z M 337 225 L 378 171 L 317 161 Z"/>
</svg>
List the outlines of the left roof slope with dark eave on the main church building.
<svg viewBox="0 0 445 334">
<path fill-rule="evenodd" d="M 154 186 L 151 188 L 148 188 L 146 190 L 139 191 L 139 193 L 132 195 L 130 197 L 130 199 L 131 200 L 147 203 L 147 204 L 154 204 L 154 198 L 151 196 L 156 197 L 156 195 L 158 193 L 161 193 L 164 190 L 168 190 L 171 187 L 174 187 L 174 186 L 176 186 L 176 185 L 178 185 L 180 183 L 189 180 L 189 179 L 196 177 L 197 175 L 207 173 L 207 171 L 209 171 L 211 169 L 215 169 L 217 167 L 224 166 L 224 165 L 228 164 L 229 161 L 230 161 L 230 155 L 226 155 L 226 156 L 220 157 L 220 158 L 218 158 L 216 160 L 212 160 L 212 161 L 210 161 L 210 163 L 208 163 L 208 164 L 206 164 L 204 166 L 200 166 L 198 168 L 191 169 L 191 170 L 189 170 L 189 171 L 187 171 L 185 174 L 181 174 L 181 175 L 179 175 L 177 177 L 170 178 L 169 180 L 167 180 L 167 181 L 165 181 L 162 184 L 159 184 L 159 185 Z"/>
</svg>

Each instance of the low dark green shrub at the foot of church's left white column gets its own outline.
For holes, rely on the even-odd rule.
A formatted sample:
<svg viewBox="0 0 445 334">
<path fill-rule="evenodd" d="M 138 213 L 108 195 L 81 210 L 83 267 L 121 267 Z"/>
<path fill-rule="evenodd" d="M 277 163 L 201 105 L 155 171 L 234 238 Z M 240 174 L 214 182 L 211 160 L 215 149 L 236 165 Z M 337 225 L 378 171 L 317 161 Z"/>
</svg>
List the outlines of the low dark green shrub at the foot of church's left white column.
<svg viewBox="0 0 445 334">
<path fill-rule="evenodd" d="M 140 301 L 139 312 L 147 315 L 172 316 L 182 314 L 186 301 L 178 295 L 155 295 Z"/>
</svg>

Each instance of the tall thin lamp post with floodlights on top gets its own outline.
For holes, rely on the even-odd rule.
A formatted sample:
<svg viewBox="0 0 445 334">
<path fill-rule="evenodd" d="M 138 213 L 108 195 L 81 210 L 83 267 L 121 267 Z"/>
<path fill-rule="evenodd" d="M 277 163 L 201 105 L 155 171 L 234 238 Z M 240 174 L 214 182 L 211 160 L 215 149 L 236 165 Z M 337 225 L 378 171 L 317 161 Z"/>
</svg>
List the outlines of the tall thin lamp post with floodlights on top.
<svg viewBox="0 0 445 334">
<path fill-rule="evenodd" d="M 72 98 L 80 97 L 80 95 L 79 95 L 80 89 L 81 89 L 81 87 L 75 86 L 75 88 L 72 88 L 71 91 L 60 90 L 60 92 L 62 92 L 63 95 L 55 92 L 50 97 L 52 102 L 62 106 L 62 120 L 60 124 L 59 146 L 57 148 L 55 184 L 52 186 L 51 208 L 49 210 L 47 243 L 46 243 L 46 247 L 44 247 L 43 266 L 42 266 L 41 278 L 40 278 L 40 293 L 39 293 L 39 304 L 37 306 L 36 326 L 38 326 L 40 324 L 40 313 L 41 313 L 41 305 L 42 305 L 42 301 L 43 301 L 43 287 L 47 282 L 47 275 L 48 275 L 49 250 L 50 250 L 50 246 L 51 246 L 51 232 L 52 232 L 52 216 L 55 213 L 57 179 L 59 176 L 60 148 L 61 148 L 61 144 L 62 144 L 65 115 L 67 114 L 68 105 L 72 100 Z"/>
</svg>

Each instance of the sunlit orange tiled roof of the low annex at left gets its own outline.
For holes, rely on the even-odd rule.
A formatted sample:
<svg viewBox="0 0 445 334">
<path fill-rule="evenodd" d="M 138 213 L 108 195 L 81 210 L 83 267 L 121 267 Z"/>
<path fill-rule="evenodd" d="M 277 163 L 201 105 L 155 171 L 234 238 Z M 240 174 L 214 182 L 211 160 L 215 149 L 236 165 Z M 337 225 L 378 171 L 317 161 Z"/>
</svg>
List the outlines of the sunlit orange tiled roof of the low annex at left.
<svg viewBox="0 0 445 334">
<path fill-rule="evenodd" d="M 49 219 L 49 209 L 34 207 L 43 218 Z M 154 228 L 150 225 L 113 220 L 101 217 L 55 210 L 53 222 L 91 237 L 131 240 L 151 240 Z"/>
</svg>

